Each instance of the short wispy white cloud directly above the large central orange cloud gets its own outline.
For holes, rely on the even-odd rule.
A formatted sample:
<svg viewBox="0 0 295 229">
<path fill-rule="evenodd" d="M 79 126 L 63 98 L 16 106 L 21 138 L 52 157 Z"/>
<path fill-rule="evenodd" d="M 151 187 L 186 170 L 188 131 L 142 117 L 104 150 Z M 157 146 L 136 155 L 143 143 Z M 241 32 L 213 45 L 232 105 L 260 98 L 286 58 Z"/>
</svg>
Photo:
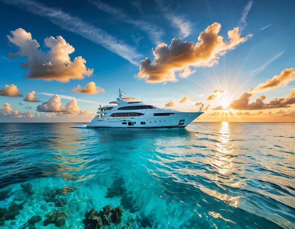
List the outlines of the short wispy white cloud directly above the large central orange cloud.
<svg viewBox="0 0 295 229">
<path fill-rule="evenodd" d="M 185 19 L 184 16 L 176 15 L 173 11 L 167 7 L 166 3 L 162 0 L 156 0 L 158 4 L 158 9 L 162 11 L 163 16 L 171 23 L 171 25 L 179 30 L 179 33 L 183 36 L 183 38 L 189 36 L 191 34 L 191 30 L 193 24 Z"/>
</svg>

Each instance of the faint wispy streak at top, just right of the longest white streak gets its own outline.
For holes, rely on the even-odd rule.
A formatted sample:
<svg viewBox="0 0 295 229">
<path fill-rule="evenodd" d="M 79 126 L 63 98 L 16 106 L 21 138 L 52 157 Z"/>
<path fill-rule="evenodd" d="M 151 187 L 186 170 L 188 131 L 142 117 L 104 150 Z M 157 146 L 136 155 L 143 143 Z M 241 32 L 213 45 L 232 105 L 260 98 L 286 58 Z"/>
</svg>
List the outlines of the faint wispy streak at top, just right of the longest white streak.
<svg viewBox="0 0 295 229">
<path fill-rule="evenodd" d="M 164 35 L 164 33 L 162 32 L 160 28 L 158 28 L 158 26 L 145 20 L 133 19 L 128 14 L 124 13 L 122 9 L 117 9 L 99 0 L 88 0 L 88 1 L 89 3 L 94 5 L 97 9 L 104 11 L 108 14 L 112 14 L 117 19 L 124 21 L 125 23 L 135 25 L 137 28 L 147 33 L 150 40 L 153 41 L 155 44 L 158 44 L 159 42 L 161 42 L 161 38 Z"/>
</svg>

